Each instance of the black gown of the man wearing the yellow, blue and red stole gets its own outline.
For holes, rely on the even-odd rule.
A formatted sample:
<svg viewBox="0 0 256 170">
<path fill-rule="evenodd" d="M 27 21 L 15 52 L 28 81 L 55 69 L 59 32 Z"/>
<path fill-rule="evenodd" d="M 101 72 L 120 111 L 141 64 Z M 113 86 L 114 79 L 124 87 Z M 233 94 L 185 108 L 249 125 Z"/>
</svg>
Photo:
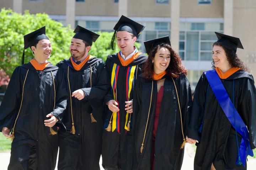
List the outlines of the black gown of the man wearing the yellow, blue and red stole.
<svg viewBox="0 0 256 170">
<path fill-rule="evenodd" d="M 133 146 L 132 146 L 132 131 L 126 131 L 124 129 L 126 122 L 126 73 L 127 68 L 130 66 L 138 67 L 137 75 L 142 73 L 142 64 L 146 61 L 147 56 L 143 53 L 140 54 L 132 63 L 128 66 L 122 66 L 118 55 L 110 55 L 106 60 L 106 67 L 108 76 L 111 79 L 111 72 L 113 64 L 116 63 L 119 67 L 118 78 L 117 78 L 117 101 L 119 102 L 119 127 L 120 134 L 118 134 L 117 129 L 114 132 L 108 132 L 105 130 L 107 128 L 112 112 L 107 108 L 107 117 L 105 120 L 104 130 L 103 130 L 103 143 L 102 143 L 102 166 L 105 169 L 117 169 L 121 168 L 122 170 L 130 170 L 133 166 Z M 136 75 L 134 75 L 134 78 Z M 109 80 L 110 84 L 110 80 Z M 133 99 L 133 85 L 130 92 L 129 100 Z M 113 100 L 112 88 L 108 91 L 108 94 L 105 97 L 105 103 L 110 100 Z M 107 106 L 106 106 L 107 107 Z M 132 120 L 132 118 L 131 118 Z M 131 128 L 132 129 L 132 126 Z"/>
</svg>

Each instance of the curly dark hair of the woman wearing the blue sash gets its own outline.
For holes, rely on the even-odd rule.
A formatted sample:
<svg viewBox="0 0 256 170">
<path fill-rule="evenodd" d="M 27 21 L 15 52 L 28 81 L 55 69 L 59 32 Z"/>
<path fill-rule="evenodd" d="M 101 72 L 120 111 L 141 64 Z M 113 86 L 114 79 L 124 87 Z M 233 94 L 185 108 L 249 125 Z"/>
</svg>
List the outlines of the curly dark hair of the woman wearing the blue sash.
<svg viewBox="0 0 256 170">
<path fill-rule="evenodd" d="M 224 49 L 227 60 L 230 64 L 231 67 L 238 67 L 246 72 L 249 72 L 249 68 L 246 66 L 246 64 L 238 57 L 238 55 L 236 54 L 236 52 L 229 46 L 223 44 L 222 42 L 214 42 L 213 46 L 217 45 L 220 46 Z M 212 61 L 212 69 L 215 69 L 214 66 L 214 60 Z"/>
</svg>

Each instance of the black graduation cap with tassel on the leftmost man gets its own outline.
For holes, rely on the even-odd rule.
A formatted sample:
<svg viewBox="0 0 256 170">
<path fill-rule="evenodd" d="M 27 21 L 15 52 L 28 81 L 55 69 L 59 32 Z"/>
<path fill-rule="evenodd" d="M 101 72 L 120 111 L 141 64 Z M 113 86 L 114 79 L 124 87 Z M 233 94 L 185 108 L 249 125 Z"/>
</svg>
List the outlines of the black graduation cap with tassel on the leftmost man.
<svg viewBox="0 0 256 170">
<path fill-rule="evenodd" d="M 43 39 L 49 40 L 49 38 L 45 34 L 46 34 L 46 27 L 44 26 L 24 36 L 24 49 L 23 49 L 21 64 L 24 64 L 25 49 L 36 45 L 37 42 L 40 40 L 43 40 Z"/>
</svg>

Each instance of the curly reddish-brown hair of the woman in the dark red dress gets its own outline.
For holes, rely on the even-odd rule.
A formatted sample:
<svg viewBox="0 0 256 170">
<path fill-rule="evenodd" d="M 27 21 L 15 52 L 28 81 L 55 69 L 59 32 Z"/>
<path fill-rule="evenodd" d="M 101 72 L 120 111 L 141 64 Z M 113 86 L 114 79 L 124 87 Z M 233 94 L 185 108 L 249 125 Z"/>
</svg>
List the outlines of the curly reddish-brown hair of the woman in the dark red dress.
<svg viewBox="0 0 256 170">
<path fill-rule="evenodd" d="M 154 59 L 156 52 L 159 49 L 161 49 L 162 47 L 169 50 L 170 56 L 171 56 L 169 66 L 165 70 L 166 75 L 168 75 L 172 78 L 179 78 L 182 73 L 187 75 L 187 69 L 181 64 L 181 58 L 178 55 L 178 53 L 176 53 L 172 49 L 171 45 L 166 44 L 166 43 L 161 43 L 161 44 L 154 46 L 153 49 L 151 49 L 151 51 L 148 55 L 148 59 L 144 63 L 143 76 L 148 80 L 152 79 L 153 73 L 154 73 L 154 64 L 152 63 L 152 60 Z"/>
</svg>

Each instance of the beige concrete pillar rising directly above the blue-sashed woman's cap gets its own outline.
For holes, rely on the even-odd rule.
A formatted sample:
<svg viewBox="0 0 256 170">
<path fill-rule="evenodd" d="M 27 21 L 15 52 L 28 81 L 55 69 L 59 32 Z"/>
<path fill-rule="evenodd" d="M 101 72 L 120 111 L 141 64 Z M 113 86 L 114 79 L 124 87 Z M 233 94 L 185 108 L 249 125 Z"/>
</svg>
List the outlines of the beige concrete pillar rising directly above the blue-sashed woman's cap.
<svg viewBox="0 0 256 170">
<path fill-rule="evenodd" d="M 224 0 L 224 34 L 233 35 L 233 0 Z"/>
</svg>

